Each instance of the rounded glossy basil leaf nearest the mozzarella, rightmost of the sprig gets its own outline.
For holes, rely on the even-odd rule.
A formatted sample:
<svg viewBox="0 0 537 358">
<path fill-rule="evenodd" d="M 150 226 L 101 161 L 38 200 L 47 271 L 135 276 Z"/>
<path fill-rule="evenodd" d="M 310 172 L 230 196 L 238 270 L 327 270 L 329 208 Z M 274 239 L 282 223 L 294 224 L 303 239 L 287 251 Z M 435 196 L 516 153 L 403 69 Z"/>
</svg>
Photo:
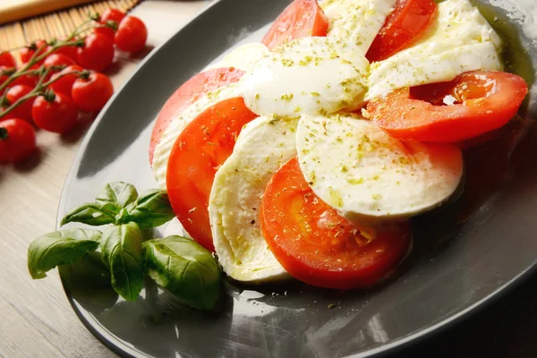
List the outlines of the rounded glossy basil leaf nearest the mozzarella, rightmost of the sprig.
<svg viewBox="0 0 537 358">
<path fill-rule="evenodd" d="M 146 272 L 184 303 L 210 310 L 220 294 L 221 272 L 212 254 L 199 243 L 168 236 L 143 243 Z"/>
</svg>

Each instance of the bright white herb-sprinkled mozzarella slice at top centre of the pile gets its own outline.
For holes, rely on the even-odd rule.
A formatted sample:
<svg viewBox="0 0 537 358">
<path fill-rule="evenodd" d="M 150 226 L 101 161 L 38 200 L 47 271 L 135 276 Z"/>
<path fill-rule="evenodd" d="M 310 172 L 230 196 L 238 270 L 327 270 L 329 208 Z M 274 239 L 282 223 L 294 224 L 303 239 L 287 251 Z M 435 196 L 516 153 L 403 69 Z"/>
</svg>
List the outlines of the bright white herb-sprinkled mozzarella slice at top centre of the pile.
<svg viewBox="0 0 537 358">
<path fill-rule="evenodd" d="M 240 81 L 257 115 L 330 114 L 362 103 L 369 62 L 329 38 L 297 38 L 274 48 Z"/>
</svg>

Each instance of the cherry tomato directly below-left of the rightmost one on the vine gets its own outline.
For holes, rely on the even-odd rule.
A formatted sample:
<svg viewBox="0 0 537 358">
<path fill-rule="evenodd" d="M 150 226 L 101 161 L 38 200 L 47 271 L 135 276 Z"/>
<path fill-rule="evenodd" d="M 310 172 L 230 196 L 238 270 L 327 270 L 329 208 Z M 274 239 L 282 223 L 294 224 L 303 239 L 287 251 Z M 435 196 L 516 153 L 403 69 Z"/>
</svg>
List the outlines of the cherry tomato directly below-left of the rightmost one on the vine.
<svg viewBox="0 0 537 358">
<path fill-rule="evenodd" d="M 92 33 L 78 48 L 77 63 L 88 70 L 102 72 L 114 61 L 114 42 L 105 35 Z"/>
</svg>

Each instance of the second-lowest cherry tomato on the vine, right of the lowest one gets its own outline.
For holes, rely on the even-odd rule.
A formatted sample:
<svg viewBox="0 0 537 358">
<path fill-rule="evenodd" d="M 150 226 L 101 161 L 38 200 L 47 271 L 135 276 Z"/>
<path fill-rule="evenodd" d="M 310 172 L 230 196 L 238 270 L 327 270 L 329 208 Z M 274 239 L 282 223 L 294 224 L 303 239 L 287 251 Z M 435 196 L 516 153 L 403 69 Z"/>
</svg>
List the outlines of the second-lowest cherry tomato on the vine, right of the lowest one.
<svg viewBox="0 0 537 358">
<path fill-rule="evenodd" d="M 71 131 L 76 125 L 78 108 L 68 96 L 55 93 L 52 101 L 44 96 L 36 98 L 31 114 L 39 128 L 61 134 Z"/>
</svg>

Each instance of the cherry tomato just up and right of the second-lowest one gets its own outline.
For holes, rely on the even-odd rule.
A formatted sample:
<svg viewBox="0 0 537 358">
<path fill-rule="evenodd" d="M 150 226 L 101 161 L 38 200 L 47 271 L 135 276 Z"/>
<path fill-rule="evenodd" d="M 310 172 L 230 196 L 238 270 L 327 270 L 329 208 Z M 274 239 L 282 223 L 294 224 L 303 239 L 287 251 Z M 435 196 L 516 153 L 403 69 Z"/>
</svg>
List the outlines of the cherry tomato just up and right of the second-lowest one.
<svg viewBox="0 0 537 358">
<path fill-rule="evenodd" d="M 112 81 L 98 72 L 92 72 L 89 79 L 78 78 L 72 84 L 71 97 L 82 111 L 100 111 L 113 94 Z"/>
</svg>

